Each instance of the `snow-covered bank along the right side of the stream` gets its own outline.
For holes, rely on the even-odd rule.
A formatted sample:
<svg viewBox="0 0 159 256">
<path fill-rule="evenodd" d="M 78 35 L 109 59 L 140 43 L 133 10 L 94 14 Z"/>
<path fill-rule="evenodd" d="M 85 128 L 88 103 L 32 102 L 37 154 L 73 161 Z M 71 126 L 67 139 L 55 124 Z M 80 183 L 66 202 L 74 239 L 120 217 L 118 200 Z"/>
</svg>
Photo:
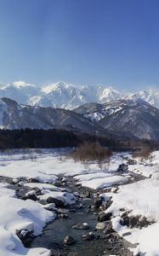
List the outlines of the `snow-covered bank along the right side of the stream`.
<svg viewBox="0 0 159 256">
<path fill-rule="evenodd" d="M 134 255 L 159 255 L 159 152 L 150 155 L 150 159 L 137 159 L 135 165 L 128 166 L 131 172 L 146 178 L 136 183 L 119 186 L 117 193 L 111 193 L 112 204 L 106 212 L 112 212 L 113 229 L 134 245 Z M 105 193 L 105 196 L 107 194 Z M 122 225 L 124 212 L 128 217 L 146 218 L 150 222 L 143 228 Z"/>
</svg>

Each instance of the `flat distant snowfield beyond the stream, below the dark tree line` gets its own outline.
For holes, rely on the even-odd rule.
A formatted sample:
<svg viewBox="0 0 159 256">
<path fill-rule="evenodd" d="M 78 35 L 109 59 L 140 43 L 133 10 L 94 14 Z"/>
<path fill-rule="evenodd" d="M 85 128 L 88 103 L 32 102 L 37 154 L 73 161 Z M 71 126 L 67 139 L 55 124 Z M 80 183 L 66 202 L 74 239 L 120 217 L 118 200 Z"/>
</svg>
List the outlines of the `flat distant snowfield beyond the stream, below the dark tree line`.
<svg viewBox="0 0 159 256">
<path fill-rule="evenodd" d="M 0 160 L 0 175 L 3 177 L 27 177 L 34 178 L 39 182 L 53 183 L 57 179 L 57 175 L 75 176 L 83 173 L 98 173 L 94 177 L 99 177 L 100 168 L 96 164 L 91 164 L 88 169 L 81 163 L 75 163 L 73 160 L 60 159 L 53 155 L 38 156 L 37 159 L 24 159 L 21 154 L 16 155 L 14 160 L 13 155 L 8 159 Z M 116 156 L 111 160 L 109 172 L 116 172 L 118 165 L 122 162 L 120 156 Z M 14 171 L 14 172 L 13 172 Z M 106 171 L 107 172 L 107 171 Z"/>
</svg>

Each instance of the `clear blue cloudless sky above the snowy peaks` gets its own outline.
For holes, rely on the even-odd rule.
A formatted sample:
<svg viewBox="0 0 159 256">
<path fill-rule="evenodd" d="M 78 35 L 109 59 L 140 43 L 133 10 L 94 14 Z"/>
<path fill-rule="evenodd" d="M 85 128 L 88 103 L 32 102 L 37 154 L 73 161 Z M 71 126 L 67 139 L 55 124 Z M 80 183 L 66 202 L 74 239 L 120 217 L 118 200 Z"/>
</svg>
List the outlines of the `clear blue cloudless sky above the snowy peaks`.
<svg viewBox="0 0 159 256">
<path fill-rule="evenodd" d="M 0 0 L 0 82 L 159 89 L 158 0 Z"/>
</svg>

